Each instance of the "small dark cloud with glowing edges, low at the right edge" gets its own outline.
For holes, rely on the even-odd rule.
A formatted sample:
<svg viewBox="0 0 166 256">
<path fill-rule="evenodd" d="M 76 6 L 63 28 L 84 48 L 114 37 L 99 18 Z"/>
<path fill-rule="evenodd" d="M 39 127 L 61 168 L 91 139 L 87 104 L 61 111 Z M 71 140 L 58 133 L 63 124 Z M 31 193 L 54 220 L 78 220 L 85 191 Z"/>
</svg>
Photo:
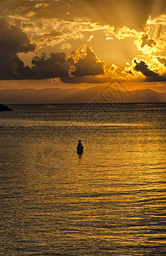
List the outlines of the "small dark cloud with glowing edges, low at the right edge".
<svg viewBox="0 0 166 256">
<path fill-rule="evenodd" d="M 149 69 L 149 67 L 146 65 L 145 61 L 136 61 L 135 60 L 135 70 L 140 71 L 143 73 L 143 75 L 146 76 L 146 81 L 148 82 L 154 82 L 154 81 L 166 81 L 166 74 L 159 75 L 158 73 L 152 71 Z"/>
</svg>

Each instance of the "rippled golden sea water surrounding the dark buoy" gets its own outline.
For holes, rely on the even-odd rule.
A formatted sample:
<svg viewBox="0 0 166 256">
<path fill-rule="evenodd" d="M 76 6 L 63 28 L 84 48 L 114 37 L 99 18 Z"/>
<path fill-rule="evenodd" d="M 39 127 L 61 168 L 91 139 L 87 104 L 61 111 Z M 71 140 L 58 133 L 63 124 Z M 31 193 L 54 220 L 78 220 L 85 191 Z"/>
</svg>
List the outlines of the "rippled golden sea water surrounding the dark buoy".
<svg viewBox="0 0 166 256">
<path fill-rule="evenodd" d="M 165 255 L 166 104 L 9 107 L 0 255 Z"/>
</svg>

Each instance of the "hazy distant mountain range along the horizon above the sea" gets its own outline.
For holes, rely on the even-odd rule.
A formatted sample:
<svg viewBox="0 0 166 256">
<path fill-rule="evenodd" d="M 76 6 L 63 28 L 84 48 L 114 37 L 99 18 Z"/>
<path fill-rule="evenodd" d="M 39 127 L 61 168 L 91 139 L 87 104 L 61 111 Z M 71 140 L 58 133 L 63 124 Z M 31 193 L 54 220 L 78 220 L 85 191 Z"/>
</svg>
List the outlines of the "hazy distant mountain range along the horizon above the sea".
<svg viewBox="0 0 166 256">
<path fill-rule="evenodd" d="M 0 101 L 6 104 L 166 102 L 166 92 L 160 93 L 150 89 L 124 91 L 109 86 L 95 86 L 88 89 L 13 89 L 0 90 Z"/>
</svg>

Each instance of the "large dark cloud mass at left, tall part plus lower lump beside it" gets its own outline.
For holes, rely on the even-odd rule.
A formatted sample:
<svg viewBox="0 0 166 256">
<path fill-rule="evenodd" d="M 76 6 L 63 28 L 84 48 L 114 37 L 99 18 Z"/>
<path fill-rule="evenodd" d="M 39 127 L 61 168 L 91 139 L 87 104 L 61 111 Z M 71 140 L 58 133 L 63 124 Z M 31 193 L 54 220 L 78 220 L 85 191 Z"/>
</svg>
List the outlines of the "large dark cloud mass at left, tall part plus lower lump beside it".
<svg viewBox="0 0 166 256">
<path fill-rule="evenodd" d="M 18 53 L 34 51 L 26 34 L 17 26 L 0 20 L 0 79 L 50 79 L 69 75 L 68 62 L 64 53 L 53 53 L 36 57 L 32 67 L 25 66 Z"/>
</svg>

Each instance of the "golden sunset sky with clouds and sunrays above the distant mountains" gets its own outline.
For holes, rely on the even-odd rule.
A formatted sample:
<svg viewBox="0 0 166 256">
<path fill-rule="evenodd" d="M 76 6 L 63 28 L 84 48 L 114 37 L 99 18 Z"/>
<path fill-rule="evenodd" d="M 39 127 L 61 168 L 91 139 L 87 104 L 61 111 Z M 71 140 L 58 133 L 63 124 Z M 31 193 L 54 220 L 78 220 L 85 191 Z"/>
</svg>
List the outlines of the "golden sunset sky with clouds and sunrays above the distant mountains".
<svg viewBox="0 0 166 256">
<path fill-rule="evenodd" d="M 165 94 L 165 27 L 165 0 L 1 0 L 0 90 Z"/>
</svg>

